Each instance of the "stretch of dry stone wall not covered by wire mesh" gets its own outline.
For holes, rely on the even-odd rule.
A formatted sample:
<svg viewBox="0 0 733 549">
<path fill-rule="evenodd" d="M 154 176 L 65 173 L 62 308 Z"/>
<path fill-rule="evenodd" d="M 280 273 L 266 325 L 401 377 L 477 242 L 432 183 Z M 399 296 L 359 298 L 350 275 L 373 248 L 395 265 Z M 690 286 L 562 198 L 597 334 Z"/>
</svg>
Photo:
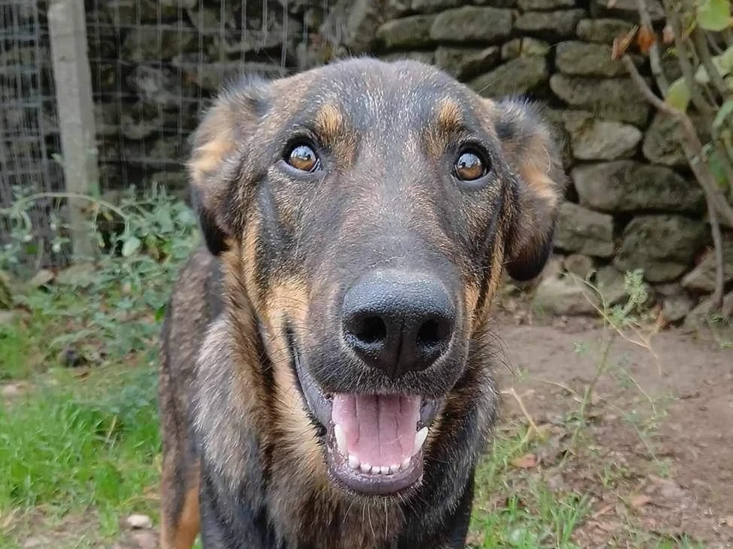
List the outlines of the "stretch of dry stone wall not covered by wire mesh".
<svg viewBox="0 0 733 549">
<path fill-rule="evenodd" d="M 556 236 L 559 263 L 537 287 L 538 307 L 594 313 L 582 289 L 560 277 L 592 270 L 615 304 L 627 297 L 623 273 L 644 269 L 652 299 L 671 322 L 704 302 L 715 274 L 710 228 L 704 196 L 677 143 L 679 128 L 654 113 L 622 61 L 611 60 L 614 37 L 638 20 L 636 0 L 616 1 L 612 9 L 604 0 L 388 3 L 391 19 L 377 30 L 380 56 L 436 64 L 486 97 L 528 94 L 548 105 L 572 185 Z M 648 4 L 660 22 L 660 4 Z M 644 60 L 634 61 L 648 75 Z M 665 70 L 676 78 L 674 64 Z M 730 289 L 730 235 L 726 248 Z"/>
</svg>

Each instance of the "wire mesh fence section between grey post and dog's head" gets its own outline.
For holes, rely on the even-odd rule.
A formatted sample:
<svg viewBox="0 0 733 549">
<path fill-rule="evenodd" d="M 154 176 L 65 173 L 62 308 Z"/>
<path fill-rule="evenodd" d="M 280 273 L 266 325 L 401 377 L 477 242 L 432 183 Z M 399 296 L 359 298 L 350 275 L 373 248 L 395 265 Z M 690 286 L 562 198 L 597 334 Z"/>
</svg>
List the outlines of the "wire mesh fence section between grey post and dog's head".
<svg viewBox="0 0 733 549">
<path fill-rule="evenodd" d="M 318 61 L 304 37 L 323 11 L 303 1 L 268 1 L 266 10 L 262 2 L 232 0 L 106 0 L 89 8 L 106 189 L 157 181 L 185 193 L 186 138 L 221 83 L 240 72 L 286 75 L 306 58 Z"/>
</svg>

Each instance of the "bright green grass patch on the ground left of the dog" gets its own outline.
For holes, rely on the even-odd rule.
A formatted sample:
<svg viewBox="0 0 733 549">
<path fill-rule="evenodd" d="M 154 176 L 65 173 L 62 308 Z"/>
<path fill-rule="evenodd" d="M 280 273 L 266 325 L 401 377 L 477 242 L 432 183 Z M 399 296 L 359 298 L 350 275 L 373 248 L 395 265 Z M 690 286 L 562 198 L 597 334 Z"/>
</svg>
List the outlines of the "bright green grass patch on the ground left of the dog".
<svg viewBox="0 0 733 549">
<path fill-rule="evenodd" d="M 150 367 L 104 367 L 84 380 L 53 371 L 0 408 L 0 509 L 60 516 L 95 507 L 102 518 L 152 512 L 156 387 Z"/>
</svg>

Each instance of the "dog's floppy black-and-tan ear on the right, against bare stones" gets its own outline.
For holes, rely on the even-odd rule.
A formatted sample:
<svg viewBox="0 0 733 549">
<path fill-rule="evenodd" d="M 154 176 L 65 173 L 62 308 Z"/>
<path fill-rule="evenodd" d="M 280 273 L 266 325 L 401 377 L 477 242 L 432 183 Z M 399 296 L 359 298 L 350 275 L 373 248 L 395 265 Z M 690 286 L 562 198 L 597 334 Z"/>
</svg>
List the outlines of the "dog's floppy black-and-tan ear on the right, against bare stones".
<svg viewBox="0 0 733 549">
<path fill-rule="evenodd" d="M 567 187 L 559 138 L 537 107 L 517 98 L 497 103 L 496 131 L 515 175 L 512 226 L 505 244 L 505 267 L 518 281 L 539 275 L 548 260 L 559 204 Z"/>
</svg>

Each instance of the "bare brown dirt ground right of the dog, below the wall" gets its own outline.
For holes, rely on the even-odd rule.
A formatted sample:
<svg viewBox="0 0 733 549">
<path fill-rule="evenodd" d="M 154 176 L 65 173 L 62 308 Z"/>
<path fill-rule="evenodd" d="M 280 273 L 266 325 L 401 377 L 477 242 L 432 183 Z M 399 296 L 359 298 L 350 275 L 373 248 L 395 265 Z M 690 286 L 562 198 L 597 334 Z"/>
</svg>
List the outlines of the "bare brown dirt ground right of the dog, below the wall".
<svg viewBox="0 0 733 549">
<path fill-rule="evenodd" d="M 507 396 L 513 385 L 537 425 L 560 425 L 562 414 L 579 406 L 560 385 L 582 394 L 594 377 L 602 331 L 590 319 L 522 320 L 499 314 L 496 323 L 507 364 L 515 370 L 512 375 L 501 369 L 499 375 L 504 418 L 525 415 L 517 400 Z M 658 360 L 624 340 L 611 347 L 608 364 L 613 367 L 598 381 L 601 398 L 593 407 L 597 470 L 587 462 L 575 469 L 556 467 L 559 482 L 593 496 L 592 517 L 575 538 L 586 548 L 608 546 L 627 528 L 624 509 L 631 507 L 641 529 L 671 537 L 688 534 L 706 547 L 731 548 L 733 348 L 674 328 L 651 341 Z M 625 368 L 638 386 L 629 378 L 624 377 L 626 383 L 614 378 L 617 367 Z M 622 417 L 649 409 L 650 402 L 656 402 L 662 418 L 645 444 Z M 649 441 L 656 460 L 650 457 Z M 606 490 L 598 479 L 608 473 L 609 463 L 625 473 Z M 660 463 L 668 468 L 665 474 L 660 474 Z M 552 463 L 548 469 L 552 474 Z M 624 493 L 626 505 L 619 505 Z"/>
</svg>

